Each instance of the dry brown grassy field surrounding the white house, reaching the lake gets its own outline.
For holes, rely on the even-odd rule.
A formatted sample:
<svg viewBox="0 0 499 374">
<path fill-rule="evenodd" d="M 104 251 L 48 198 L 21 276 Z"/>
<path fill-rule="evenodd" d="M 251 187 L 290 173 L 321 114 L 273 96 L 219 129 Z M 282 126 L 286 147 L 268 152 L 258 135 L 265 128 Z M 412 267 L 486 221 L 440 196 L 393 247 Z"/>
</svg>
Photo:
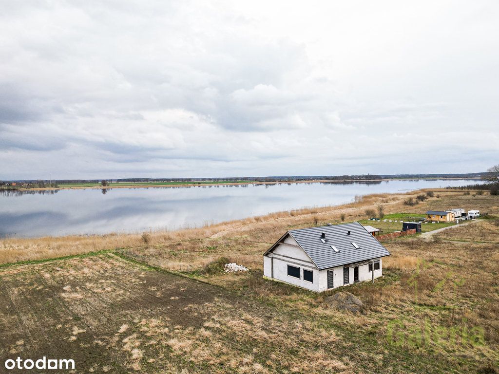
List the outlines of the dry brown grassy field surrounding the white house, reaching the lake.
<svg viewBox="0 0 499 374">
<path fill-rule="evenodd" d="M 261 278 L 261 254 L 285 230 L 365 219 L 378 203 L 499 215 L 497 196 L 438 193 L 416 206 L 372 195 L 143 236 L 3 240 L 3 262 L 75 256 L 0 268 L 0 354 L 73 358 L 76 373 L 498 373 L 495 219 L 384 243 L 384 277 L 348 287 L 358 314 L 325 304 L 341 289 Z M 228 260 L 251 271 L 226 274 Z"/>
</svg>

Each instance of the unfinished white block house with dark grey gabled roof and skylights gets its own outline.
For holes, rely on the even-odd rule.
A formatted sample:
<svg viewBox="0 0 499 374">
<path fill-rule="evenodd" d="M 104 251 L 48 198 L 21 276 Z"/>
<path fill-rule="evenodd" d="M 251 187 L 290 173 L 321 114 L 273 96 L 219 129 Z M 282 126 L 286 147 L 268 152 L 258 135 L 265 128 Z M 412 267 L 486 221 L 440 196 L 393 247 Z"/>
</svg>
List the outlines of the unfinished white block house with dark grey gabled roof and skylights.
<svg viewBox="0 0 499 374">
<path fill-rule="evenodd" d="M 263 254 L 263 276 L 322 292 L 374 281 L 389 255 L 358 222 L 290 230 Z"/>
</svg>

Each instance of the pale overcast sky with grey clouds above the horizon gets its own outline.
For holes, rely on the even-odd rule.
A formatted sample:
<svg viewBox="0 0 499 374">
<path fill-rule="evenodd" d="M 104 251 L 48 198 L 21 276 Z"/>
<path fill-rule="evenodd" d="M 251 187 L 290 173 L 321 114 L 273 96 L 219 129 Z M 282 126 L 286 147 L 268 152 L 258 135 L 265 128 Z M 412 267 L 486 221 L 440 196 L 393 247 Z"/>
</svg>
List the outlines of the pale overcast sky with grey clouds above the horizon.
<svg viewBox="0 0 499 374">
<path fill-rule="evenodd" d="M 0 180 L 473 173 L 499 2 L 0 1 Z"/>
</svg>

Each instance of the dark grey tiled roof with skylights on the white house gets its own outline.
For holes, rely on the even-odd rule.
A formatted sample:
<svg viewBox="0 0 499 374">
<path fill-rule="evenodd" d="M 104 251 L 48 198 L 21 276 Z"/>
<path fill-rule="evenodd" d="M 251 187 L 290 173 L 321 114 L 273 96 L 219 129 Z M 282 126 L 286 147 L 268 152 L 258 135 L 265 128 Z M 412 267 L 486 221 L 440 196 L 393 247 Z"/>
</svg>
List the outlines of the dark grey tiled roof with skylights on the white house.
<svg viewBox="0 0 499 374">
<path fill-rule="evenodd" d="M 326 243 L 320 240 L 322 232 L 326 234 Z M 320 270 L 390 255 L 358 222 L 290 230 L 289 234 Z M 355 248 L 352 241 L 360 248 Z M 331 245 L 339 252 L 334 252 Z"/>
</svg>

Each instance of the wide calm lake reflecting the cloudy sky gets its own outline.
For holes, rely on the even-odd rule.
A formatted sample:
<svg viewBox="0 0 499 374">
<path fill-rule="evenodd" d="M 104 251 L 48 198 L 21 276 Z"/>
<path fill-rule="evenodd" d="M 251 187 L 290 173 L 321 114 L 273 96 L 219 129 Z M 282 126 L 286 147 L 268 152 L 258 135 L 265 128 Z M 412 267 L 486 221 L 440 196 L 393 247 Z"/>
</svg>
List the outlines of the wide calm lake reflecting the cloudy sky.
<svg viewBox="0 0 499 374">
<path fill-rule="evenodd" d="M 475 184 L 471 180 L 0 191 L 0 236 L 138 232 L 199 227 L 356 195 Z M 449 207 L 452 208 L 452 207 Z"/>
</svg>

